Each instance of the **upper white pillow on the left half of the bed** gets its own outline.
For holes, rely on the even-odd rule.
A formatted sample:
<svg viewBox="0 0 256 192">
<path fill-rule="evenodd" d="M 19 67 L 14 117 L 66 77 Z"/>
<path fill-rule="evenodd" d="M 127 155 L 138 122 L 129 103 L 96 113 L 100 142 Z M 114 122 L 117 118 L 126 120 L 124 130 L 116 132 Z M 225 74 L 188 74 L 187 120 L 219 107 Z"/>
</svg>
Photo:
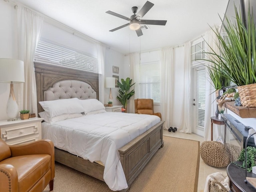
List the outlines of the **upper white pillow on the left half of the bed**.
<svg viewBox="0 0 256 192">
<path fill-rule="evenodd" d="M 84 108 L 80 104 L 78 98 L 40 101 L 39 104 L 50 118 L 62 114 L 84 112 Z"/>
</svg>

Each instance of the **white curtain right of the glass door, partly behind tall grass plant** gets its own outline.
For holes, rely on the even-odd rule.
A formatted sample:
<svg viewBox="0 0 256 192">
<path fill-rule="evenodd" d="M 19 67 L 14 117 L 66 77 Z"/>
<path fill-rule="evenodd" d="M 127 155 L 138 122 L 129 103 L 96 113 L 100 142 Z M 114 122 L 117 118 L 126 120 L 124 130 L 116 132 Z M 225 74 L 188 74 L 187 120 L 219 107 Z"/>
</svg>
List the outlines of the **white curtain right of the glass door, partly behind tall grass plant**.
<svg viewBox="0 0 256 192">
<path fill-rule="evenodd" d="M 218 29 L 215 29 L 217 32 Z M 205 34 L 206 40 L 206 52 L 212 52 L 210 47 L 216 52 L 219 53 L 218 46 L 216 44 L 217 38 L 216 34 L 213 30 L 206 32 Z M 207 45 L 208 44 L 208 45 Z M 209 47 L 210 46 L 210 47 Z M 207 56 L 206 56 L 207 57 Z M 211 65 L 211 62 L 205 62 L 206 66 Z M 215 116 L 217 102 L 216 102 L 216 94 L 214 92 L 214 87 L 212 86 L 212 82 L 210 76 L 208 74 L 208 68 L 206 67 L 206 100 L 205 100 L 205 114 L 204 114 L 204 140 L 211 140 L 211 117 Z M 214 92 L 214 93 L 213 93 Z M 224 138 L 224 128 L 213 124 L 213 140 L 216 140 L 218 136 Z"/>
</svg>

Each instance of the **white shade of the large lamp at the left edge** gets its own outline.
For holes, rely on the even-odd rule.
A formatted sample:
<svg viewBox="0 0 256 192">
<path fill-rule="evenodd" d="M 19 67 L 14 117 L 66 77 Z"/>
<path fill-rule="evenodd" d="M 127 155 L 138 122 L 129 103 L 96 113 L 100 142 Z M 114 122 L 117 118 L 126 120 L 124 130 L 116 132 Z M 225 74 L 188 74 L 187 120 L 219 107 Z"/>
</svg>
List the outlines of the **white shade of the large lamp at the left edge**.
<svg viewBox="0 0 256 192">
<path fill-rule="evenodd" d="M 24 83 L 24 62 L 17 59 L 0 58 L 0 82 Z"/>
</svg>

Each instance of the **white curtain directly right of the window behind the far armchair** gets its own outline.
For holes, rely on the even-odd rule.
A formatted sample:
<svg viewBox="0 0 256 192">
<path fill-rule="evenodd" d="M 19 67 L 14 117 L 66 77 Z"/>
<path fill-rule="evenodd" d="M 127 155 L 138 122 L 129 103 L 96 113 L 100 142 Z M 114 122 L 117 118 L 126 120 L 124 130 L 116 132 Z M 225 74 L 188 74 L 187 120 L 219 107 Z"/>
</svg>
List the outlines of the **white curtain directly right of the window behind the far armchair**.
<svg viewBox="0 0 256 192">
<path fill-rule="evenodd" d="M 161 49 L 161 81 L 160 81 L 160 107 L 162 120 L 165 121 L 164 129 L 168 130 L 173 118 L 174 100 L 174 70 L 173 70 L 173 47 Z"/>
</svg>

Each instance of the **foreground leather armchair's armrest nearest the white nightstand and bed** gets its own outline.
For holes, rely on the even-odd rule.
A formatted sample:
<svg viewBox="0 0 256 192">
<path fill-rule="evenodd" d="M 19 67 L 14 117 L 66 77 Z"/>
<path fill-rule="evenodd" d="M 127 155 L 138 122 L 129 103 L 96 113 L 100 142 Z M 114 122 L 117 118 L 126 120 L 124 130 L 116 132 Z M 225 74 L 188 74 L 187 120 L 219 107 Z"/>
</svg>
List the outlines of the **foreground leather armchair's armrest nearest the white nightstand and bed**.
<svg viewBox="0 0 256 192">
<path fill-rule="evenodd" d="M 34 155 L 34 154 L 49 154 L 52 161 L 52 179 L 55 176 L 54 164 L 54 144 L 50 140 L 38 140 L 28 144 L 9 145 L 11 156 Z"/>
</svg>

